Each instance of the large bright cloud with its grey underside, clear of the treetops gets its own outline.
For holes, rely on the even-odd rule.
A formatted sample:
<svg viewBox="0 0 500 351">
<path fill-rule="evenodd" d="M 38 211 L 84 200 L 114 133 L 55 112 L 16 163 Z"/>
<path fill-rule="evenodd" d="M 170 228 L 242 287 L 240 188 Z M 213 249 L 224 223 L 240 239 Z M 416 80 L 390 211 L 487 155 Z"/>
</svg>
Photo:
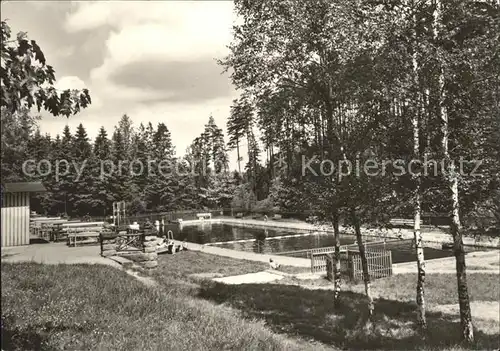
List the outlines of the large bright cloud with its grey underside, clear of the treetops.
<svg viewBox="0 0 500 351">
<path fill-rule="evenodd" d="M 67 16 L 65 27 L 113 28 L 103 63 L 90 73 L 100 94 L 113 100 L 203 100 L 231 93 L 214 58 L 227 53 L 232 9 L 228 1 L 82 2 Z M 187 89 L 189 84 L 194 90 Z"/>
</svg>

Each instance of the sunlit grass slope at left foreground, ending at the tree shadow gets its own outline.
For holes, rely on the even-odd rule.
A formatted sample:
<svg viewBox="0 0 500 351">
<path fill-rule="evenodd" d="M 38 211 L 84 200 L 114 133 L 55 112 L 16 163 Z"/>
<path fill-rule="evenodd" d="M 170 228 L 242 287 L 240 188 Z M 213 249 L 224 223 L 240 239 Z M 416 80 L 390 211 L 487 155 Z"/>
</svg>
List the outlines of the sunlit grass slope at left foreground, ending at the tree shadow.
<svg viewBox="0 0 500 351">
<path fill-rule="evenodd" d="M 327 349 L 186 293 L 185 274 L 202 271 L 203 258 L 176 255 L 164 270 L 176 284 L 159 288 L 107 266 L 2 263 L 2 350 Z M 259 268 L 236 262 L 219 270 Z"/>
</svg>

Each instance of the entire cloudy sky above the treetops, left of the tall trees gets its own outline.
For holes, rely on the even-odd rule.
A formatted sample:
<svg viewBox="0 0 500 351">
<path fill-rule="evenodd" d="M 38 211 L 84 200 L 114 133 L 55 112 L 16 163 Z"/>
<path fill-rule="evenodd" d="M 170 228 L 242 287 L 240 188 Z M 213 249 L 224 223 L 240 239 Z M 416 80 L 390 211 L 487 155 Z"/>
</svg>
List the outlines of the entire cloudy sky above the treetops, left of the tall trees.
<svg viewBox="0 0 500 351">
<path fill-rule="evenodd" d="M 226 130 L 238 93 L 216 59 L 232 39 L 232 1 L 2 1 L 1 18 L 37 41 L 56 88 L 90 90 L 79 114 L 42 114 L 43 133 L 83 123 L 93 139 L 127 114 L 134 126 L 165 123 L 181 156 L 210 115 Z"/>
</svg>

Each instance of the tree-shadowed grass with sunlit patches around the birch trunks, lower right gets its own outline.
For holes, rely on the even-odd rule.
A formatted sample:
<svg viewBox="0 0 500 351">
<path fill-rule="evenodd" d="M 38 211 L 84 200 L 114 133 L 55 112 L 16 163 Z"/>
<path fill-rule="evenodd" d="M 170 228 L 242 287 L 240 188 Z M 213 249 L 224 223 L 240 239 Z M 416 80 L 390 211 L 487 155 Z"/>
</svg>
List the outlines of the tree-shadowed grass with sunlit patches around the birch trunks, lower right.
<svg viewBox="0 0 500 351">
<path fill-rule="evenodd" d="M 489 278 L 492 277 L 487 279 Z M 489 281 L 485 287 L 494 281 L 497 280 Z M 476 342 L 471 348 L 460 345 L 459 321 L 455 316 L 448 314 L 428 312 L 428 330 L 421 334 L 415 324 L 415 303 L 410 302 L 415 299 L 415 280 L 411 280 L 411 277 L 401 279 L 399 281 L 401 285 L 397 285 L 397 289 L 401 291 L 398 291 L 397 295 L 393 283 L 397 284 L 397 279 L 391 283 L 374 284 L 379 297 L 375 300 L 375 322 L 371 329 L 363 328 L 367 320 L 366 298 L 363 293 L 356 291 L 361 290 L 361 286 L 344 287 L 347 291 L 344 289 L 337 306 L 332 304 L 331 290 L 305 289 L 282 284 L 234 286 L 210 282 L 204 285 L 200 296 L 237 308 L 243 311 L 247 318 L 260 318 L 277 332 L 313 338 L 342 349 L 495 350 L 499 348 L 499 325 L 494 321 L 475 320 Z M 382 289 L 382 285 L 393 289 L 385 290 L 386 298 L 381 297 L 380 295 L 384 294 L 378 292 Z M 447 289 L 435 287 L 437 289 L 428 286 L 428 301 L 451 302 L 452 297 L 446 294 L 456 289 L 456 282 Z M 404 291 L 407 293 L 403 293 Z M 483 294 L 479 294 L 480 291 Z M 494 300 L 493 294 L 480 288 L 472 295 L 478 299 L 497 301 Z M 451 293 L 450 295 L 453 296 Z M 456 300 L 452 303 L 456 303 Z"/>
</svg>

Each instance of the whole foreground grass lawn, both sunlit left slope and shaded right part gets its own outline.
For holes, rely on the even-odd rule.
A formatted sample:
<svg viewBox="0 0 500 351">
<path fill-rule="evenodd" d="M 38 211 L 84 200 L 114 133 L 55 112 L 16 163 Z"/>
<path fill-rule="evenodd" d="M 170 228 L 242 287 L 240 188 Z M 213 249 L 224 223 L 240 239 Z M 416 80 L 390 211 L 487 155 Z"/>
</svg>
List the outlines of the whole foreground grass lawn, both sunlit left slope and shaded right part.
<svg viewBox="0 0 500 351">
<path fill-rule="evenodd" d="M 148 288 L 111 267 L 2 264 L 2 349 L 467 349 L 453 316 L 429 312 L 425 338 L 417 332 L 414 274 L 373 282 L 375 323 L 368 330 L 361 284 L 346 284 L 333 306 L 329 290 L 224 285 L 202 276 L 267 268 L 201 252 L 162 255 L 147 273 L 159 284 Z M 471 274 L 468 281 L 473 301 L 498 301 L 498 275 Z M 428 275 L 426 299 L 456 303 L 455 275 Z M 498 324 L 475 325 L 481 328 L 473 349 L 498 349 Z"/>
</svg>

